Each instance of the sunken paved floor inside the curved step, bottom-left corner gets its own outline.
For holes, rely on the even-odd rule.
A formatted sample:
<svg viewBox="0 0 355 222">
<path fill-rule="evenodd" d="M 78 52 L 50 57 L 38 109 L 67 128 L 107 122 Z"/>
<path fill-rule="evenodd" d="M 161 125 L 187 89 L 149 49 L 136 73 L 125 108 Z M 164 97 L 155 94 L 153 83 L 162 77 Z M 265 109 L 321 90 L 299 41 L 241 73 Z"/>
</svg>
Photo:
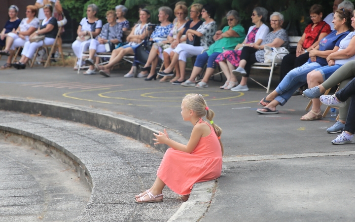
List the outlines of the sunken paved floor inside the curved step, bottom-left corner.
<svg viewBox="0 0 355 222">
<path fill-rule="evenodd" d="M 0 140 L 0 222 L 74 221 L 90 191 L 68 165 Z"/>
</svg>

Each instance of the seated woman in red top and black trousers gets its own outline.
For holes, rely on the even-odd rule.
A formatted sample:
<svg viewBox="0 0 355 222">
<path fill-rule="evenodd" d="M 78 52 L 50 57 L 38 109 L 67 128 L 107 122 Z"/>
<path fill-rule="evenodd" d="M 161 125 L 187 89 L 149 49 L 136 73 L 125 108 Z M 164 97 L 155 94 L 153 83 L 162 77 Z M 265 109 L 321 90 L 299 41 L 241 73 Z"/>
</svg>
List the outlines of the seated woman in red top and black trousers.
<svg viewBox="0 0 355 222">
<path fill-rule="evenodd" d="M 298 41 L 296 53 L 284 56 L 281 63 L 280 82 L 292 69 L 305 64 L 309 59 L 309 51 L 319 44 L 320 39 L 331 32 L 330 26 L 322 20 L 323 7 L 320 4 L 314 4 L 309 13 L 313 23 L 306 27 L 302 38 Z"/>
</svg>

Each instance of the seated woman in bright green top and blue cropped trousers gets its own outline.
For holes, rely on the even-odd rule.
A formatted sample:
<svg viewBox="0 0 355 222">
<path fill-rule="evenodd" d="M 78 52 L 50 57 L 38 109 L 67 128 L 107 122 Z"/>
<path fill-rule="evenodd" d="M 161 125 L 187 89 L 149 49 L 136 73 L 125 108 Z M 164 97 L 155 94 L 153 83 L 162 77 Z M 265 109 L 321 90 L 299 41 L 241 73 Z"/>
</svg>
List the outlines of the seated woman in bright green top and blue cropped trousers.
<svg viewBox="0 0 355 222">
<path fill-rule="evenodd" d="M 210 48 L 198 55 L 192 73 L 189 79 L 181 83 L 183 86 L 195 86 L 197 88 L 208 87 L 208 80 L 213 74 L 216 67 L 215 58 L 223 52 L 223 50 L 231 50 L 238 44 L 244 41 L 246 37 L 243 26 L 239 24 L 239 14 L 236 10 L 230 10 L 227 15 L 228 26 L 222 31 L 218 30 L 214 36 L 214 43 Z M 202 72 L 203 67 L 207 63 L 207 70 L 201 82 L 195 85 L 195 77 Z"/>
</svg>

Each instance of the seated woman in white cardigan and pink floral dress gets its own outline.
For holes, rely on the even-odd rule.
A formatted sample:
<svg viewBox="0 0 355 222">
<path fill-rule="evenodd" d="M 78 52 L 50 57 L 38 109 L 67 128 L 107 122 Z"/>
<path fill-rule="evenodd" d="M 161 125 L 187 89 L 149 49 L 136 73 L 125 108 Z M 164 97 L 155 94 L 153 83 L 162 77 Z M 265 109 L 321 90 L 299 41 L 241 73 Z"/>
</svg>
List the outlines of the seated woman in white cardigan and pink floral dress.
<svg viewBox="0 0 355 222">
<path fill-rule="evenodd" d="M 270 32 L 269 27 L 264 24 L 267 19 L 268 11 L 263 7 L 256 7 L 251 14 L 251 22 L 255 25 L 249 27 L 247 37 L 242 43 L 237 44 L 234 50 L 228 50 L 222 52 L 217 56 L 215 62 L 219 65 L 227 81 L 224 85 L 220 86 L 220 89 L 231 89 L 238 85 L 238 80 L 232 71 L 239 66 L 240 55 L 242 54 L 242 47 L 250 46 L 255 43 L 260 45 L 262 40 Z"/>
</svg>

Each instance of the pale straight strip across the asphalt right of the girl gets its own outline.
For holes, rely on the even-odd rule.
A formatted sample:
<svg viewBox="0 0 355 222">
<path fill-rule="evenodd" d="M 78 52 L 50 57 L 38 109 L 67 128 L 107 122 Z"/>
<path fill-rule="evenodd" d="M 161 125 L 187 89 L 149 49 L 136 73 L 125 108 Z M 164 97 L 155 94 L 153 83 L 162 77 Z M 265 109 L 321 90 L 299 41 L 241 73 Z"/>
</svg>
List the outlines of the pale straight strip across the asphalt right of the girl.
<svg viewBox="0 0 355 222">
<path fill-rule="evenodd" d="M 355 151 L 339 151 L 339 152 L 312 152 L 312 153 L 298 153 L 298 154 L 281 154 L 281 155 L 259 155 L 259 156 L 227 156 L 223 157 L 223 162 L 238 162 L 238 161 L 260 161 L 270 159 L 293 159 L 304 157 L 317 156 L 345 156 L 355 155 Z"/>
</svg>

